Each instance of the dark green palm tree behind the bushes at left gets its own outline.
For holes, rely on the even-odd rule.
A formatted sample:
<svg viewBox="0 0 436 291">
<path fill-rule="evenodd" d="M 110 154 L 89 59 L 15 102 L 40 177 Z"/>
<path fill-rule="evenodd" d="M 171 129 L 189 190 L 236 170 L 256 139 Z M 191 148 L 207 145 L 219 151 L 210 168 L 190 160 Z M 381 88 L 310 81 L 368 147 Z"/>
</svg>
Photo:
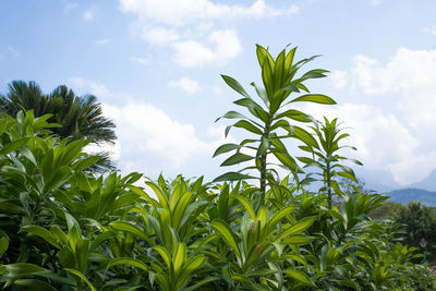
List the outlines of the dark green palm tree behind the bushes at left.
<svg viewBox="0 0 436 291">
<path fill-rule="evenodd" d="M 12 81 L 8 94 L 0 95 L 0 112 L 16 116 L 23 109 L 34 110 L 35 117 L 53 114 L 49 121 L 62 126 L 53 128 L 51 131 L 61 138 L 90 140 L 97 145 L 113 144 L 117 140 L 113 131 L 116 125 L 102 116 L 97 97 L 94 95 L 78 97 L 64 85 L 45 95 L 33 81 L 28 83 Z M 101 151 L 98 156 L 100 156 L 99 170 L 113 168 L 108 153 Z"/>
</svg>

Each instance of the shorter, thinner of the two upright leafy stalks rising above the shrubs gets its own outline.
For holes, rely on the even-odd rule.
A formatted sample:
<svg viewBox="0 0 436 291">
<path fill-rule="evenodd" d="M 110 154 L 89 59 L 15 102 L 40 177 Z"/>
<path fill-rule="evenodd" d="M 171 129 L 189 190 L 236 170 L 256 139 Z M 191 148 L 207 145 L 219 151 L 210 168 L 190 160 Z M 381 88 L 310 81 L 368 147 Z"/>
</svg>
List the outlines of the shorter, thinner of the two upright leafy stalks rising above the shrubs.
<svg viewBox="0 0 436 291">
<path fill-rule="evenodd" d="M 311 129 L 316 138 L 311 138 L 310 143 L 305 142 L 305 145 L 300 146 L 300 148 L 310 153 L 312 157 L 299 157 L 298 159 L 304 162 L 305 167 L 316 167 L 320 170 L 320 172 L 310 173 L 308 175 L 318 177 L 315 180 L 323 182 L 324 185 L 319 191 L 327 193 L 327 206 L 331 208 L 334 193 L 342 195 L 338 178 L 358 182 L 354 171 L 344 166 L 343 161 L 349 160 L 359 166 L 362 166 L 362 162 L 339 155 L 342 148 L 351 148 L 353 150 L 356 148 L 350 145 L 340 145 L 340 142 L 349 137 L 350 134 L 343 132 L 338 119 L 329 121 L 324 118 L 324 123 L 314 121 L 314 125 Z"/>
</svg>

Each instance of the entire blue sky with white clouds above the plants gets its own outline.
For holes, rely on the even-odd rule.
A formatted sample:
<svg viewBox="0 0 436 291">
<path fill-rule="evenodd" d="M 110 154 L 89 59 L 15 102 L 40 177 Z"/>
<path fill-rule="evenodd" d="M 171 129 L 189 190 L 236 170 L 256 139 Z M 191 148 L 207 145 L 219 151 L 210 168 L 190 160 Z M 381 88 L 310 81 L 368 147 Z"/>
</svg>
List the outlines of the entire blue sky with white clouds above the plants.
<svg viewBox="0 0 436 291">
<path fill-rule="evenodd" d="M 238 109 L 220 74 L 255 95 L 256 44 L 323 54 L 306 70 L 330 73 L 307 86 L 338 104 L 300 109 L 343 122 L 363 180 L 405 185 L 436 168 L 436 1 L 2 0 L 0 13 L 0 93 L 23 80 L 97 96 L 123 173 L 225 172 L 213 153 L 245 135 L 215 122 Z"/>
</svg>

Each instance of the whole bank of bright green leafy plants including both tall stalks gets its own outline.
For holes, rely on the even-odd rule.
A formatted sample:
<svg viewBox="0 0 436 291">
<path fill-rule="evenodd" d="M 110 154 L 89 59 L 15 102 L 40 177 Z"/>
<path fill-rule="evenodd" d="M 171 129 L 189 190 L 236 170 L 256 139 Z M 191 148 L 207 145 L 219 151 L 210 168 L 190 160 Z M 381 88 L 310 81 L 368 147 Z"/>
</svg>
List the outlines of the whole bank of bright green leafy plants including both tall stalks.
<svg viewBox="0 0 436 291">
<path fill-rule="evenodd" d="M 274 59 L 257 47 L 265 88 L 255 89 L 265 97 L 265 107 L 243 94 L 233 78 L 223 77 L 244 95 L 237 105 L 258 119 L 234 111 L 225 116 L 238 118 L 233 126 L 256 138 L 217 149 L 216 155 L 235 150 L 223 166 L 254 163 L 241 170 L 249 173 L 221 175 L 218 180 L 223 183 L 182 175 L 140 182 L 143 175 L 135 172 L 125 177 L 96 173 L 87 169 L 98 157 L 83 151 L 90 141 L 69 142 L 53 135 L 51 129 L 57 125 L 49 123 L 51 116 L 35 118 L 29 110 L 20 111 L 15 119 L 1 117 L 2 287 L 431 290 L 434 277 L 428 268 L 412 263 L 421 256 L 416 247 L 396 241 L 393 221 L 370 218 L 387 197 L 337 186 L 340 179 L 355 181 L 352 170 L 342 165 L 348 159 L 337 153 L 347 136 L 337 121 L 318 123 L 307 113 L 284 107 L 291 93 L 307 90 L 304 80 L 326 72 L 313 70 L 295 76 L 312 58 L 293 64 L 294 51 L 283 50 Z M 290 101 L 303 100 L 334 102 L 312 94 Z M 293 158 L 283 143 L 288 137 L 296 138 L 301 154 L 307 156 Z M 267 160 L 269 154 L 289 171 L 283 179 L 278 177 L 277 165 Z M 300 180 L 303 169 L 314 172 L 305 172 Z M 244 181 L 256 172 L 259 186 Z M 315 173 L 322 173 L 320 179 L 312 179 Z M 304 189 L 313 180 L 324 183 L 315 194 Z M 340 199 L 332 203 L 332 195 Z"/>
</svg>

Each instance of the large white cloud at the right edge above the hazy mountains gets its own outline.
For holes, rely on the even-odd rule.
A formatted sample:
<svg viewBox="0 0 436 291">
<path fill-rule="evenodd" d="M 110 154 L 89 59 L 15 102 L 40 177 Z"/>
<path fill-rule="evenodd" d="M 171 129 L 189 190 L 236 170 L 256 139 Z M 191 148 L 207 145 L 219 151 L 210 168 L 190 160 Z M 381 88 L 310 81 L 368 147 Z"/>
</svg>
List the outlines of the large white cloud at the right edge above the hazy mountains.
<svg viewBox="0 0 436 291">
<path fill-rule="evenodd" d="M 436 165 L 436 50 L 399 48 L 388 61 L 356 56 L 353 63 L 344 72 L 342 88 L 362 90 L 362 98 L 364 94 L 377 96 L 380 106 L 390 104 L 384 111 L 400 112 L 396 118 L 374 107 L 373 113 L 362 119 L 366 128 L 359 126 L 358 133 L 371 141 L 361 143 L 363 154 L 368 153 L 365 159 L 374 167 L 386 165 L 402 184 L 425 178 Z M 350 112 L 347 124 L 362 114 Z M 367 132 L 373 126 L 379 128 L 378 134 Z M 372 135 L 376 137 L 370 138 Z"/>
</svg>

